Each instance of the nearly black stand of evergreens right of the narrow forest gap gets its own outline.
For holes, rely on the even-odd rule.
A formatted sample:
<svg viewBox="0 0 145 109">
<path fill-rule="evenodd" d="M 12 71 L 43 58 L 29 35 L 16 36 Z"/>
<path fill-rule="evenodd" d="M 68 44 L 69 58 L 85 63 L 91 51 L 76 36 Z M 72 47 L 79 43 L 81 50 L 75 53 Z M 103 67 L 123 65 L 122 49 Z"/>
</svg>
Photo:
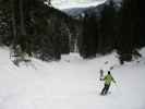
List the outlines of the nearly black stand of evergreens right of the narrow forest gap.
<svg viewBox="0 0 145 109">
<path fill-rule="evenodd" d="M 120 61 L 141 57 L 137 48 L 145 46 L 143 0 L 123 0 L 120 4 L 108 0 L 100 16 L 89 14 L 83 19 L 83 43 L 80 52 L 84 58 L 117 50 Z"/>
</svg>

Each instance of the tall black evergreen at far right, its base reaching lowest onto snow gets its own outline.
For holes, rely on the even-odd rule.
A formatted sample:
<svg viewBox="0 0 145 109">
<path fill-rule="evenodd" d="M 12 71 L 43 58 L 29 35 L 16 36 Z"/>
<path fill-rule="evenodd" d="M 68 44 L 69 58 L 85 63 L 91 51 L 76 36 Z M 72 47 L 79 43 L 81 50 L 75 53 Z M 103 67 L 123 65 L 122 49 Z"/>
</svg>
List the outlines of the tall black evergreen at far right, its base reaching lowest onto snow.
<svg viewBox="0 0 145 109">
<path fill-rule="evenodd" d="M 119 44 L 119 53 L 121 63 L 131 61 L 135 49 L 141 47 L 142 34 L 142 13 L 140 10 L 140 0 L 123 0 L 121 9 L 121 36 Z M 140 56 L 138 53 L 135 53 Z"/>
</svg>

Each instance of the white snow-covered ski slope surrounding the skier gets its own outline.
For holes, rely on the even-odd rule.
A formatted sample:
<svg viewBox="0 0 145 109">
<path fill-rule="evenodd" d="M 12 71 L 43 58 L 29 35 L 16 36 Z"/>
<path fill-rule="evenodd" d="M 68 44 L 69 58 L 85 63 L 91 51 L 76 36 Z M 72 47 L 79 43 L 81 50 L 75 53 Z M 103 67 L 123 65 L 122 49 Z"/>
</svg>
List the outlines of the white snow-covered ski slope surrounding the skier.
<svg viewBox="0 0 145 109">
<path fill-rule="evenodd" d="M 0 109 L 145 109 L 145 49 L 142 58 L 120 65 L 117 53 L 83 60 L 77 53 L 58 62 L 15 66 L 10 50 L 0 48 Z M 107 96 L 100 96 L 104 82 L 99 70 L 111 73 Z"/>
</svg>

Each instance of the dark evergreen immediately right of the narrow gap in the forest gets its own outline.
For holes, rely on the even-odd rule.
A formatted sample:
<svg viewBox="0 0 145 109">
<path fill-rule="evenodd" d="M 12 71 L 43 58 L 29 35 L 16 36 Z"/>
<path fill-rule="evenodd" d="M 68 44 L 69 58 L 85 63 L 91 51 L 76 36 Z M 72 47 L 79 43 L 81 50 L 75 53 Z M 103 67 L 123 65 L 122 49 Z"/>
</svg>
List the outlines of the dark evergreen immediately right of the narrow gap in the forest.
<svg viewBox="0 0 145 109">
<path fill-rule="evenodd" d="M 83 38 L 81 46 L 81 56 L 83 58 L 96 57 L 97 52 L 97 21 L 95 15 L 85 15 L 83 22 Z"/>
</svg>

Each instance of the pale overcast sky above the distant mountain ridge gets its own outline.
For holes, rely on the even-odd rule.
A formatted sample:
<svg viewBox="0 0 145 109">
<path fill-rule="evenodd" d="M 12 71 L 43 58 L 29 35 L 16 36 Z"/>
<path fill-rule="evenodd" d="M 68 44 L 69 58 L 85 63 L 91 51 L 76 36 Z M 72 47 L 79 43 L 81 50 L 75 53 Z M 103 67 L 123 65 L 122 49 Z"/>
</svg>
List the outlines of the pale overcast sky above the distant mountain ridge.
<svg viewBox="0 0 145 109">
<path fill-rule="evenodd" d="M 51 4 L 57 9 L 85 8 L 97 5 L 105 0 L 51 0 Z"/>
</svg>

